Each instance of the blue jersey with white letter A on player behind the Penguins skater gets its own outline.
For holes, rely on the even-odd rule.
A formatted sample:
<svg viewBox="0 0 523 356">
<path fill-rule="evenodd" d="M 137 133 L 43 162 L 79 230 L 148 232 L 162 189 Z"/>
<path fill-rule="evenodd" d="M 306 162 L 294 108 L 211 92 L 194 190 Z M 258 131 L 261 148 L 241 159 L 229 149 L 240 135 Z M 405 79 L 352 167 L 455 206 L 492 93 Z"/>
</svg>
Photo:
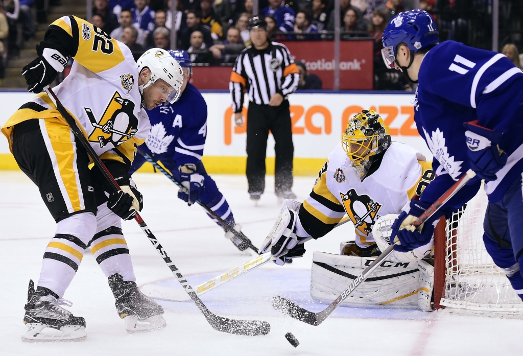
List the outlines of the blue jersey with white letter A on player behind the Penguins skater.
<svg viewBox="0 0 523 356">
<path fill-rule="evenodd" d="M 188 83 L 174 104 L 164 103 L 146 112 L 151 122 L 147 153 L 168 169 L 200 162 L 207 138 L 207 104 L 194 85 Z"/>
</svg>

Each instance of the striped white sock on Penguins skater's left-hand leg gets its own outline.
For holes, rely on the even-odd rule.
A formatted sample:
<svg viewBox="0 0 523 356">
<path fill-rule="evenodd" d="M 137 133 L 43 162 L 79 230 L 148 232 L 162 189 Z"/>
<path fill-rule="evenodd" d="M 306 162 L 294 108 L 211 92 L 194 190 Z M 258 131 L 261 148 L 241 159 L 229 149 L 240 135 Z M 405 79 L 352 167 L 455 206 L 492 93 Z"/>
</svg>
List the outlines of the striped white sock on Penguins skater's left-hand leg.
<svg viewBox="0 0 523 356">
<path fill-rule="evenodd" d="M 58 222 L 56 235 L 43 254 L 38 288 L 47 288 L 60 298 L 64 295 L 78 270 L 95 228 L 96 217 L 93 213 L 71 215 Z"/>
</svg>

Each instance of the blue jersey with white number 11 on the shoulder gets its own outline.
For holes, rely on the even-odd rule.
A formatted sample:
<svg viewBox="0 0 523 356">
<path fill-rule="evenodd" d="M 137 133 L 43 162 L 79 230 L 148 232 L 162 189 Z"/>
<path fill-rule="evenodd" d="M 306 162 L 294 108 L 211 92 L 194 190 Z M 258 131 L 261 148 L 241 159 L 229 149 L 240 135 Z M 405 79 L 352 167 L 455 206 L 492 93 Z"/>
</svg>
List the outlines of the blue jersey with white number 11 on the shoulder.
<svg viewBox="0 0 523 356">
<path fill-rule="evenodd" d="M 418 74 L 414 121 L 434 154 L 438 175 L 422 194 L 433 203 L 470 168 L 464 122 L 503 133 L 499 147 L 508 154 L 497 179 L 485 183 L 497 202 L 523 171 L 523 73 L 506 56 L 446 41 L 431 49 Z M 445 204 L 447 214 L 470 200 L 481 182 L 474 179 Z M 441 215 L 441 214 L 440 214 Z"/>
</svg>

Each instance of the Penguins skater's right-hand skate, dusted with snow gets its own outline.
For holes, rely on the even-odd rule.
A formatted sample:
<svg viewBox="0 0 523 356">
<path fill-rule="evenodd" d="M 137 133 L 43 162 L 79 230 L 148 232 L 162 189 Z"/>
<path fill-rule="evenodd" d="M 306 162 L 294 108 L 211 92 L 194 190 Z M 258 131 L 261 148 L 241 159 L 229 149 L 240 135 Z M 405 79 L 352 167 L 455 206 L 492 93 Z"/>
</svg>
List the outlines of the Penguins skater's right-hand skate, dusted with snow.
<svg viewBox="0 0 523 356">
<path fill-rule="evenodd" d="M 133 281 L 123 281 L 116 273 L 109 277 L 109 286 L 115 295 L 116 311 L 126 323 L 129 334 L 163 329 L 167 324 L 163 308 L 140 292 Z"/>
</svg>

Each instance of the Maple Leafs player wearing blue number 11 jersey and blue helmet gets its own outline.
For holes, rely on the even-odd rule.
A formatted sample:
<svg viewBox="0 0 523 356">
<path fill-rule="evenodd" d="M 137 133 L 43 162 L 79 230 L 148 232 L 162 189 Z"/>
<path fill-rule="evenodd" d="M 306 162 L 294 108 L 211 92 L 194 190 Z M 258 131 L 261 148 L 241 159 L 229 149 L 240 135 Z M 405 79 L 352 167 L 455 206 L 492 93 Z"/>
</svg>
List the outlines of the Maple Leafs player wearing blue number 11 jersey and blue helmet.
<svg viewBox="0 0 523 356">
<path fill-rule="evenodd" d="M 474 197 L 483 179 L 485 248 L 523 300 L 523 73 L 501 53 L 438 43 L 436 24 L 424 10 L 392 18 L 382 40 L 385 64 L 418 83 L 414 121 L 437 174 L 392 226 L 391 239 L 401 243 L 394 249 L 426 244 L 439 217 Z M 417 217 L 469 168 L 476 178 L 415 231 Z"/>
</svg>

